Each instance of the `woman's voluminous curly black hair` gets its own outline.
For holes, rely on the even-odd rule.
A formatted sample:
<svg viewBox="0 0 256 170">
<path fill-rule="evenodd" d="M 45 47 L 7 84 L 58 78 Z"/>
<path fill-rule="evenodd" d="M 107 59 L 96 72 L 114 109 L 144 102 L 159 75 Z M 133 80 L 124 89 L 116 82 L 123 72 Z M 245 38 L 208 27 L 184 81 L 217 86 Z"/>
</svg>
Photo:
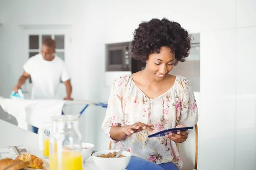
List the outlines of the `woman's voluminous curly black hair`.
<svg viewBox="0 0 256 170">
<path fill-rule="evenodd" d="M 152 19 L 143 22 L 134 31 L 134 40 L 131 42 L 132 58 L 145 62 L 149 54 L 160 53 L 165 46 L 175 52 L 175 62 L 184 62 L 189 56 L 191 36 L 179 23 L 166 18 Z"/>
</svg>

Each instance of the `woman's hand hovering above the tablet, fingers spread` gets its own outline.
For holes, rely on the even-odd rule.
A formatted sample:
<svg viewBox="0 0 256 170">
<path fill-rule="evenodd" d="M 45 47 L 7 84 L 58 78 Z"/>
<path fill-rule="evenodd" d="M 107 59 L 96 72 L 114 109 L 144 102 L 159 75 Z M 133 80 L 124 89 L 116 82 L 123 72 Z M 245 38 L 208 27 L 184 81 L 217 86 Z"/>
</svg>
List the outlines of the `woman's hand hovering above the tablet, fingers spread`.
<svg viewBox="0 0 256 170">
<path fill-rule="evenodd" d="M 138 133 L 141 130 L 145 130 L 145 129 L 147 129 L 151 132 L 155 132 L 155 130 L 151 128 L 152 126 L 153 126 L 153 124 L 147 124 L 146 125 L 146 124 L 141 123 L 141 122 L 136 122 L 133 125 L 123 126 L 123 128 L 124 128 L 123 130 L 124 130 L 125 134 L 130 136 L 133 133 Z"/>
</svg>

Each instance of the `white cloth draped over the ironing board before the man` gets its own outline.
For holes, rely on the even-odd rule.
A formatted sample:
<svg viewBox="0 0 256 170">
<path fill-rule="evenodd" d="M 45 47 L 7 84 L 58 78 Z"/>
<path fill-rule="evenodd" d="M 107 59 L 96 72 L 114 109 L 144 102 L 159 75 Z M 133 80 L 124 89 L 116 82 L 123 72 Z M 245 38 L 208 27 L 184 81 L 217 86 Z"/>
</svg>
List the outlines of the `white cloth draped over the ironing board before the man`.
<svg viewBox="0 0 256 170">
<path fill-rule="evenodd" d="M 65 101 L 59 99 L 20 100 L 0 97 L 3 110 L 17 119 L 18 127 L 27 130 L 28 124 L 40 127 L 51 122 L 52 116 L 61 115 Z"/>
</svg>

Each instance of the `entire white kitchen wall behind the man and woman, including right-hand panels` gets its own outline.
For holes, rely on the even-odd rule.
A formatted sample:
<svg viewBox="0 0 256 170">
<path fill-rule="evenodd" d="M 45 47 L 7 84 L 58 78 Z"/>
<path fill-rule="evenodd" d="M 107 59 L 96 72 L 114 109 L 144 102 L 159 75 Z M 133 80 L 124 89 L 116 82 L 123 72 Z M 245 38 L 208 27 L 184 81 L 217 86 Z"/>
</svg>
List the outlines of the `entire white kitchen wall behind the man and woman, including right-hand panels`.
<svg viewBox="0 0 256 170">
<path fill-rule="evenodd" d="M 198 169 L 254 170 L 255 8 L 254 0 L 0 0 L 0 41 L 5 42 L 0 52 L 0 96 L 9 95 L 21 74 L 22 65 L 13 62 L 19 51 L 11 50 L 18 46 L 19 25 L 72 25 L 73 97 L 107 101 L 105 43 L 130 41 L 142 20 L 167 17 L 191 33 L 201 33 Z M 104 108 L 92 106 L 79 122 L 83 140 L 96 144 L 96 150 L 108 147 L 100 130 L 104 114 Z"/>
</svg>

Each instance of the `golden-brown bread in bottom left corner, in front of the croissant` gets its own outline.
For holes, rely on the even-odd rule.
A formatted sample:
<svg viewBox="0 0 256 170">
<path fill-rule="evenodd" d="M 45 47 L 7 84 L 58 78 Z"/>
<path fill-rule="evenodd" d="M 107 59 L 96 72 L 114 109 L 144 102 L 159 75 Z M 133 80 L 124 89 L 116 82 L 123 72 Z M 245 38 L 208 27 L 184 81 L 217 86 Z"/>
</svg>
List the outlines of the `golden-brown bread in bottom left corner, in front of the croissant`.
<svg viewBox="0 0 256 170">
<path fill-rule="evenodd" d="M 29 166 L 29 161 L 13 160 L 5 158 L 0 160 L 0 170 L 21 170 Z"/>
</svg>

